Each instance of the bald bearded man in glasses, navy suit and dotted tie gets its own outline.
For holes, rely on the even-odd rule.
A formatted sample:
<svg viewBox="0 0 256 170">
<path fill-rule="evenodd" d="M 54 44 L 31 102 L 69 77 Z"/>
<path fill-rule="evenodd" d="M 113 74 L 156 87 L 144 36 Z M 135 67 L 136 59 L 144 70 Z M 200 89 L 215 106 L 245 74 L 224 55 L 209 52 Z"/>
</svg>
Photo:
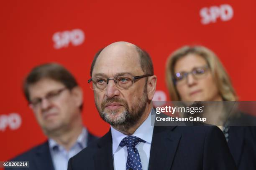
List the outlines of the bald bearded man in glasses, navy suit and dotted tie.
<svg viewBox="0 0 256 170">
<path fill-rule="evenodd" d="M 218 127 L 151 125 L 156 75 L 147 52 L 110 44 L 95 55 L 90 75 L 97 110 L 111 127 L 71 158 L 68 170 L 236 169 Z"/>
</svg>

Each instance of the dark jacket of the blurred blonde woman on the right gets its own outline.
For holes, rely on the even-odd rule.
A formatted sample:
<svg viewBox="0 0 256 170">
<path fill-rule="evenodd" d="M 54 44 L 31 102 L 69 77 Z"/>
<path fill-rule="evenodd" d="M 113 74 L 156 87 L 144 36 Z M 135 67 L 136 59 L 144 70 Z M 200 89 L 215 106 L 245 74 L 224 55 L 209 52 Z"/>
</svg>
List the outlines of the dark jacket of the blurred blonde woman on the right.
<svg viewBox="0 0 256 170">
<path fill-rule="evenodd" d="M 256 170 L 256 117 L 239 110 L 237 114 L 229 119 L 230 153 L 238 170 Z"/>
</svg>

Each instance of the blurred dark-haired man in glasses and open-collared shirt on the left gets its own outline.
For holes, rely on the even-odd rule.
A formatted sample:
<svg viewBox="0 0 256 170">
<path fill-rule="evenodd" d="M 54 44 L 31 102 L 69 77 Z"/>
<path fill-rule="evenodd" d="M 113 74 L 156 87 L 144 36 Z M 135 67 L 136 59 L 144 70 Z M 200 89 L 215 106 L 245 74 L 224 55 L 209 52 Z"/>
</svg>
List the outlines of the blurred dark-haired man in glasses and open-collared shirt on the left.
<svg viewBox="0 0 256 170">
<path fill-rule="evenodd" d="M 48 141 L 13 161 L 29 161 L 31 170 L 66 170 L 69 158 L 96 139 L 82 125 L 81 87 L 63 66 L 49 63 L 28 74 L 23 90 Z"/>
</svg>

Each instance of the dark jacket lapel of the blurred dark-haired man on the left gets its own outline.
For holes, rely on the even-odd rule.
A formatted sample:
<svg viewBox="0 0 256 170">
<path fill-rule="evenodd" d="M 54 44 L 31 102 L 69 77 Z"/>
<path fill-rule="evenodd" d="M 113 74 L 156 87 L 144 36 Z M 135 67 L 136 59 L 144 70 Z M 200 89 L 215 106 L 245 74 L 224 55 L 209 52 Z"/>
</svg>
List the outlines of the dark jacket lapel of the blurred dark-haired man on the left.
<svg viewBox="0 0 256 170">
<path fill-rule="evenodd" d="M 37 170 L 54 170 L 48 141 L 36 150 L 33 162 L 35 163 Z"/>
</svg>

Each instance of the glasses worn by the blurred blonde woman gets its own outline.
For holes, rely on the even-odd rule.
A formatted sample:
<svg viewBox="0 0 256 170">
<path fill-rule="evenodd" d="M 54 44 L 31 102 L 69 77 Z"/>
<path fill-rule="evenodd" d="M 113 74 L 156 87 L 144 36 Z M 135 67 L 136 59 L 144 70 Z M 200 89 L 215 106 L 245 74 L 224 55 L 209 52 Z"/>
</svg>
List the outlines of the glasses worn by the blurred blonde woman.
<svg viewBox="0 0 256 170">
<path fill-rule="evenodd" d="M 174 84 L 184 84 L 187 80 L 187 76 L 192 74 L 195 79 L 204 78 L 209 67 L 207 65 L 202 67 L 195 67 L 190 72 L 177 72 L 174 75 Z"/>
</svg>

